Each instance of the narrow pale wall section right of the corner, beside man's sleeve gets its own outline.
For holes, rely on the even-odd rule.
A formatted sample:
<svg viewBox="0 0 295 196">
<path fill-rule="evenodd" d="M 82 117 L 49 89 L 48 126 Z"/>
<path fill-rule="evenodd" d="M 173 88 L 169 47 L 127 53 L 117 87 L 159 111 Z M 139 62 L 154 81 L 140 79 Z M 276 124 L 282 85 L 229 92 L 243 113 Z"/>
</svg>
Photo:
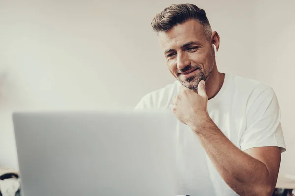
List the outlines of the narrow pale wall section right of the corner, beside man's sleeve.
<svg viewBox="0 0 295 196">
<path fill-rule="evenodd" d="M 294 73 L 295 1 L 259 0 L 255 3 L 256 78 L 273 87 L 282 112 L 287 151 L 281 174 L 295 175 Z"/>
</svg>

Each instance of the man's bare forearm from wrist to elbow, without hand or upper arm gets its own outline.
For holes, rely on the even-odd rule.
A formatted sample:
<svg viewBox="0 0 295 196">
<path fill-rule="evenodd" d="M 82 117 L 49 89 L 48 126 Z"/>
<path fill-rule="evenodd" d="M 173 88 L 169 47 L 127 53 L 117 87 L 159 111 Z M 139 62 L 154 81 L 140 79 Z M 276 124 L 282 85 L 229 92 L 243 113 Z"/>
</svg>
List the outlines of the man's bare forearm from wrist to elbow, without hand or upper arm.
<svg viewBox="0 0 295 196">
<path fill-rule="evenodd" d="M 195 130 L 224 181 L 239 195 L 269 195 L 272 191 L 265 164 L 238 149 L 209 119 Z"/>
</svg>

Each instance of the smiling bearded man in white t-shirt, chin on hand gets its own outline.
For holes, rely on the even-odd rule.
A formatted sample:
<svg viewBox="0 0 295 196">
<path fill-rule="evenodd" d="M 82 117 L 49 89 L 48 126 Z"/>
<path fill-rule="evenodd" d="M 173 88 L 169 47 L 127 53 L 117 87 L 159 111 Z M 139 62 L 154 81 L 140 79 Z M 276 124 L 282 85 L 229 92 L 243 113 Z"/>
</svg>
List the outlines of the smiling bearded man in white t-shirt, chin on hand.
<svg viewBox="0 0 295 196">
<path fill-rule="evenodd" d="M 170 108 L 177 117 L 177 194 L 271 196 L 285 151 L 273 89 L 218 71 L 220 38 L 203 9 L 171 5 L 152 27 L 177 80 L 136 109 Z"/>
</svg>

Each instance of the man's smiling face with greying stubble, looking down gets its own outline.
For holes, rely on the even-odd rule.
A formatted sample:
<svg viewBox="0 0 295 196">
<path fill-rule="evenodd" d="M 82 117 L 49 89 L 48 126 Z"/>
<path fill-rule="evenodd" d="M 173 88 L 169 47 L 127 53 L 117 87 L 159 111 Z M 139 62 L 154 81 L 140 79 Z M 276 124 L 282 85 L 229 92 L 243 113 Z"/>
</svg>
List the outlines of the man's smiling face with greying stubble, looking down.
<svg viewBox="0 0 295 196">
<path fill-rule="evenodd" d="M 188 20 L 167 32 L 160 32 L 159 39 L 172 75 L 185 87 L 197 89 L 215 64 L 213 46 L 203 26 L 196 20 Z"/>
</svg>

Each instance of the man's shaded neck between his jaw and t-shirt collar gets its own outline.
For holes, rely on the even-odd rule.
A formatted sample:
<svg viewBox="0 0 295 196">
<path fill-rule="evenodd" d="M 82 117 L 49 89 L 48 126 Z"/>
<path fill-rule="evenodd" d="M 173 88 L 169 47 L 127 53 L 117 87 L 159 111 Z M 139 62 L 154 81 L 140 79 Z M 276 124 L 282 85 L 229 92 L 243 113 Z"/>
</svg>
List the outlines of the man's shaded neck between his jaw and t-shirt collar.
<svg viewBox="0 0 295 196">
<path fill-rule="evenodd" d="M 211 99 L 217 95 L 217 93 L 220 91 L 222 85 L 224 82 L 224 73 L 220 73 L 217 70 L 217 67 L 212 70 L 211 74 L 206 80 L 206 92 L 208 95 L 208 98 Z"/>
</svg>

